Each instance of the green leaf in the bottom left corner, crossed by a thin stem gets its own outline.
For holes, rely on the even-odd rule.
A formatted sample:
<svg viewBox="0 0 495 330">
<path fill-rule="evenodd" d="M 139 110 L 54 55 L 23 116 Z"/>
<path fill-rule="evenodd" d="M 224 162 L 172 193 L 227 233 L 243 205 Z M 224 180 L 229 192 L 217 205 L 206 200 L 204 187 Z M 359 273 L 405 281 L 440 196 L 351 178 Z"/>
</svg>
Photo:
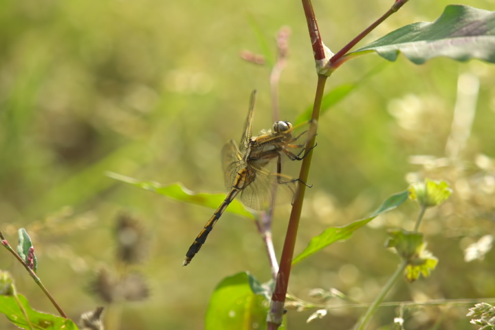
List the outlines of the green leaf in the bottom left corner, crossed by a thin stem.
<svg viewBox="0 0 495 330">
<path fill-rule="evenodd" d="M 21 294 L 17 295 L 21 306 L 24 308 L 32 329 L 46 330 L 76 330 L 78 329 L 72 320 L 45 314 L 32 309 L 28 300 Z M 25 319 L 19 305 L 17 305 L 16 296 L 0 296 L 0 313 L 5 314 L 10 322 L 21 329 L 30 329 L 28 321 Z"/>
</svg>

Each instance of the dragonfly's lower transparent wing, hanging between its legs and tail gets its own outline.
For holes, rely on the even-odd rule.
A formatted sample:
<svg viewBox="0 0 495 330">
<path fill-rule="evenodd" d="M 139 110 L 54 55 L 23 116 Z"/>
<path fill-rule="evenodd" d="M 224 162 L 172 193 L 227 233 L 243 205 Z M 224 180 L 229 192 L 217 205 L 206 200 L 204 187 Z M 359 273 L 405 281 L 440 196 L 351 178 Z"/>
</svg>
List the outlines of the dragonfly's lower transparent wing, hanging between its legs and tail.
<svg viewBox="0 0 495 330">
<path fill-rule="evenodd" d="M 270 206 L 292 203 L 294 199 L 296 183 L 286 175 L 250 166 L 246 182 L 251 183 L 241 191 L 241 201 L 254 210 L 266 210 Z"/>
</svg>

